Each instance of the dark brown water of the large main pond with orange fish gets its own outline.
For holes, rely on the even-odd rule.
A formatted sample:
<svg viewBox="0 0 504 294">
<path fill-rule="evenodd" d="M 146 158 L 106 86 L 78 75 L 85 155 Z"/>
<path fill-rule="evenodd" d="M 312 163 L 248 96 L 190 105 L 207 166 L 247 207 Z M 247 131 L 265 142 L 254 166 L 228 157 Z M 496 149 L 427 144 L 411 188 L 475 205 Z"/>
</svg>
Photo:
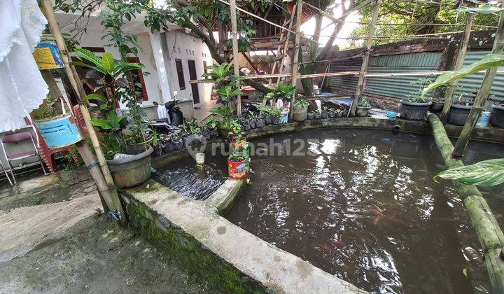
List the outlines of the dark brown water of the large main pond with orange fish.
<svg viewBox="0 0 504 294">
<path fill-rule="evenodd" d="M 432 137 L 349 129 L 272 138 L 281 155 L 252 156 L 251 185 L 229 221 L 374 293 L 491 290 L 461 200 L 449 181 L 433 181 L 444 166 Z M 503 147 L 471 142 L 465 161 L 503 158 Z M 294 149 L 309 154 L 286 155 Z M 480 190 L 502 227 L 502 185 Z"/>
</svg>

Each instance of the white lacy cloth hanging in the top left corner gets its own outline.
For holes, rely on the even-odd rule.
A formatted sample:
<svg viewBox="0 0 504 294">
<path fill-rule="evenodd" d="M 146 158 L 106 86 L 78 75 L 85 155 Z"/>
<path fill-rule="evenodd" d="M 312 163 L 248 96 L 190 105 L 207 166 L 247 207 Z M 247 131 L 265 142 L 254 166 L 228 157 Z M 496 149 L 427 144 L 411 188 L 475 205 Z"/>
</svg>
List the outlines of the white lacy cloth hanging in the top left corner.
<svg viewBox="0 0 504 294">
<path fill-rule="evenodd" d="M 47 97 L 32 55 L 46 24 L 36 0 L 0 1 L 0 132 L 24 127 Z"/>
</svg>

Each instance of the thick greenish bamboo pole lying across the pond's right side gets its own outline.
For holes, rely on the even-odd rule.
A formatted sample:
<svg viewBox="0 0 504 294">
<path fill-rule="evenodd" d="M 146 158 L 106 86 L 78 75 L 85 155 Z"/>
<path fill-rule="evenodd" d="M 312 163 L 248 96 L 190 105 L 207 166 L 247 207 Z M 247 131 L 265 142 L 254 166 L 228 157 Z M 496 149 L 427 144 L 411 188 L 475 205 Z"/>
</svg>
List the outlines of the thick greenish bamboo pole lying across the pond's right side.
<svg viewBox="0 0 504 294">
<path fill-rule="evenodd" d="M 433 113 L 429 113 L 427 118 L 444 164 L 447 168 L 463 166 L 461 160 L 451 157 L 454 147 L 441 120 Z M 466 186 L 457 181 L 454 181 L 454 184 L 458 195 L 463 200 L 465 213 L 468 215 L 476 231 L 479 244 L 482 246 L 486 269 L 488 269 L 494 293 L 504 293 L 504 261 L 500 257 L 504 256 L 504 234 L 476 186 Z"/>
</svg>

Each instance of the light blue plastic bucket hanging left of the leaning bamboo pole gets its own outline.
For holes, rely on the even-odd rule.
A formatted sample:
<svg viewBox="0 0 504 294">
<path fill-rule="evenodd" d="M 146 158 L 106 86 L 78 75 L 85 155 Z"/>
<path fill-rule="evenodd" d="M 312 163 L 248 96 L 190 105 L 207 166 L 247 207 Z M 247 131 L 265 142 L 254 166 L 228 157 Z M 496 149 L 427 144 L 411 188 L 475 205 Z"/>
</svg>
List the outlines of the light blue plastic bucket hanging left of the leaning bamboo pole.
<svg viewBox="0 0 504 294">
<path fill-rule="evenodd" d="M 49 148 L 62 148 L 82 139 L 71 114 L 48 120 L 34 120 L 45 144 Z"/>
</svg>

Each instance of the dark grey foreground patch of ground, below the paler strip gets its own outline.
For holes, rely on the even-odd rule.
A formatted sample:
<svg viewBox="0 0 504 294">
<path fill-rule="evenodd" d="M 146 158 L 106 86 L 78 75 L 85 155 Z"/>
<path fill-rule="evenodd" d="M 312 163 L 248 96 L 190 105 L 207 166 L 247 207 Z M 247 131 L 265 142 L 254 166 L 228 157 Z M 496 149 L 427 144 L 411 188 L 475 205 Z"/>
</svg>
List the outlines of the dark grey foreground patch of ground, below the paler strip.
<svg viewBox="0 0 504 294">
<path fill-rule="evenodd" d="M 0 263 L 1 293 L 202 293 L 176 266 L 106 216 Z"/>
</svg>

